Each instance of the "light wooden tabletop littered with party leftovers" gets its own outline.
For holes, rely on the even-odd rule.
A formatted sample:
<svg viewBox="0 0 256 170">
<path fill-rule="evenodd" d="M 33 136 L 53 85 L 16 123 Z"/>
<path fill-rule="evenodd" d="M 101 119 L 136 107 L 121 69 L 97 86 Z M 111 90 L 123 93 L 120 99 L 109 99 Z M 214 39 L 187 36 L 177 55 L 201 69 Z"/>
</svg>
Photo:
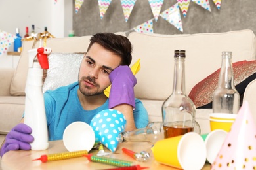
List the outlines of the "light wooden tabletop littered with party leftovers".
<svg viewBox="0 0 256 170">
<path fill-rule="evenodd" d="M 141 152 L 145 150 L 150 153 L 150 159 L 146 162 L 136 161 L 133 158 L 123 154 L 121 148 L 128 148 L 135 152 Z M 154 160 L 154 155 L 151 151 L 151 146 L 148 143 L 119 143 L 118 148 L 114 154 L 111 154 L 111 158 L 117 158 L 121 160 L 134 161 L 135 164 L 139 164 L 141 167 L 149 167 L 149 169 L 176 169 L 167 165 L 162 165 Z M 2 169 L 110 169 L 115 168 L 110 165 L 104 165 L 101 163 L 89 162 L 87 158 L 71 158 L 68 160 L 48 161 L 47 163 L 41 163 L 41 161 L 32 161 L 33 159 L 40 158 L 42 154 L 56 154 L 60 152 L 67 152 L 63 141 L 51 141 L 48 150 L 43 151 L 9 151 L 2 158 Z M 91 152 L 98 152 L 98 150 L 91 150 Z M 105 148 L 105 152 L 109 152 Z M 211 169 L 211 165 L 205 164 L 203 170 Z"/>
</svg>

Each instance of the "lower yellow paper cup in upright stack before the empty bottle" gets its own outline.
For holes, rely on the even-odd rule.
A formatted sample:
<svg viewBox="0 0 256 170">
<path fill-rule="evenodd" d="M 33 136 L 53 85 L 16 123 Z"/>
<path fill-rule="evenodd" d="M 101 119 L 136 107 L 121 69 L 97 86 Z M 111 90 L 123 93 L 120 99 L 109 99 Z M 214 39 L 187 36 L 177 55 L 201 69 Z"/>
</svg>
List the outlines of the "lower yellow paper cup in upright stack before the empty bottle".
<svg viewBox="0 0 256 170">
<path fill-rule="evenodd" d="M 217 119 L 209 119 L 211 131 L 216 129 L 223 129 L 224 131 L 229 132 L 230 128 L 234 122 L 234 120 L 217 120 Z"/>
</svg>

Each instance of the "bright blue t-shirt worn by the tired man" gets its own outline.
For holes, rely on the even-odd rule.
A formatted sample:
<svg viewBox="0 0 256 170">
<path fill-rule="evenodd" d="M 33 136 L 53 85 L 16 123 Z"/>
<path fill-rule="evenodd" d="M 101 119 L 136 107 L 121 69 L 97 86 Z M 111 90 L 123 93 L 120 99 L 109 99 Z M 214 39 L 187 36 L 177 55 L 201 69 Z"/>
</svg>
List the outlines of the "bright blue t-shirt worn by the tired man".
<svg viewBox="0 0 256 170">
<path fill-rule="evenodd" d="M 78 82 L 49 90 L 45 92 L 45 112 L 47 116 L 47 126 L 49 141 L 62 139 L 64 130 L 72 122 L 82 121 L 90 124 L 93 117 L 100 111 L 108 109 L 108 99 L 100 107 L 94 110 L 84 110 L 77 95 Z M 135 99 L 133 116 L 135 126 L 146 127 L 148 124 L 148 112 L 139 99 Z"/>
</svg>

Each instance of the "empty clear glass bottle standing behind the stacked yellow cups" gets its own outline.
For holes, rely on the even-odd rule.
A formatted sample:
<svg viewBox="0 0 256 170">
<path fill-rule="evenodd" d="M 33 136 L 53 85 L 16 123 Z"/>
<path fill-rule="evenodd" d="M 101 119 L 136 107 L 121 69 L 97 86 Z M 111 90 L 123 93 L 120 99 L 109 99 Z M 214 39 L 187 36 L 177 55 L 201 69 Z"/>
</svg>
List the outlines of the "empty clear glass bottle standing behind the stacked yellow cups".
<svg viewBox="0 0 256 170">
<path fill-rule="evenodd" d="M 232 52 L 223 52 L 218 86 L 213 93 L 213 113 L 237 114 L 240 95 L 234 86 Z"/>
</svg>

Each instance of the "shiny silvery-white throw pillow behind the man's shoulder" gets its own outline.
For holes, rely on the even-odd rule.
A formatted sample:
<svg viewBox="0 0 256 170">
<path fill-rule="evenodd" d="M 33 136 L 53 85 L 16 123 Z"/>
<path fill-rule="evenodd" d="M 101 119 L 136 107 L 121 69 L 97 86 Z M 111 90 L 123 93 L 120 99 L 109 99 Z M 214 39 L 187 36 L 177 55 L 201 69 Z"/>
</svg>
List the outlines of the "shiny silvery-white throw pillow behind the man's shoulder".
<svg viewBox="0 0 256 170">
<path fill-rule="evenodd" d="M 51 53 L 43 93 L 76 82 L 83 56 L 85 53 Z"/>
</svg>

